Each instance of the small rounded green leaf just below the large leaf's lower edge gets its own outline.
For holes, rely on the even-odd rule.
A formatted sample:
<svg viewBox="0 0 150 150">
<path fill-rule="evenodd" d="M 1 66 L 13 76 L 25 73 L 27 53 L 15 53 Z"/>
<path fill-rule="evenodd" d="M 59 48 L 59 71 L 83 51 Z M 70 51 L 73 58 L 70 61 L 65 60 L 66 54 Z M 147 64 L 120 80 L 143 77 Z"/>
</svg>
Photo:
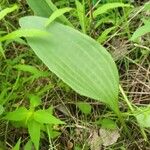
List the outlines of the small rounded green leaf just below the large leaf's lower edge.
<svg viewBox="0 0 150 150">
<path fill-rule="evenodd" d="M 76 104 L 82 113 L 88 115 L 91 113 L 91 105 L 86 102 L 78 102 Z"/>
</svg>

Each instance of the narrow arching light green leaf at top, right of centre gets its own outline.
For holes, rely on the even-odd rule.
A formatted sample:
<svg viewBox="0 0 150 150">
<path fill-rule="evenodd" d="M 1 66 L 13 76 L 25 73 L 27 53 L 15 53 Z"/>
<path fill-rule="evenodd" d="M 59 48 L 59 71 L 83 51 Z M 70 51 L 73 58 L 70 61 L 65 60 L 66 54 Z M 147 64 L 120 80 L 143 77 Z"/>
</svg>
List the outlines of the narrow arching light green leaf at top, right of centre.
<svg viewBox="0 0 150 150">
<path fill-rule="evenodd" d="M 118 7 L 131 7 L 129 4 L 124 4 L 124 3 L 107 3 L 104 4 L 100 7 L 98 7 L 94 12 L 93 16 L 96 18 L 98 15 L 106 13 L 108 10 L 118 8 Z"/>
</svg>

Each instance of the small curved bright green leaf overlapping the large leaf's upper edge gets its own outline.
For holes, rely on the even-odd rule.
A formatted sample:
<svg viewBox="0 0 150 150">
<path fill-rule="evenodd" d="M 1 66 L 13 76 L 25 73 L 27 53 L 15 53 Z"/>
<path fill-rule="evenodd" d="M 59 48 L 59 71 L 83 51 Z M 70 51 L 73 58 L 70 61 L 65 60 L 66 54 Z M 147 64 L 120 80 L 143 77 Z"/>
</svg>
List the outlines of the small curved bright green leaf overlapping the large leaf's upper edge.
<svg viewBox="0 0 150 150">
<path fill-rule="evenodd" d="M 47 27 L 51 22 L 53 22 L 56 18 L 62 16 L 64 13 L 71 11 L 72 8 L 62 8 L 55 10 L 52 15 L 49 17 L 48 21 L 46 22 L 45 26 Z"/>
</svg>

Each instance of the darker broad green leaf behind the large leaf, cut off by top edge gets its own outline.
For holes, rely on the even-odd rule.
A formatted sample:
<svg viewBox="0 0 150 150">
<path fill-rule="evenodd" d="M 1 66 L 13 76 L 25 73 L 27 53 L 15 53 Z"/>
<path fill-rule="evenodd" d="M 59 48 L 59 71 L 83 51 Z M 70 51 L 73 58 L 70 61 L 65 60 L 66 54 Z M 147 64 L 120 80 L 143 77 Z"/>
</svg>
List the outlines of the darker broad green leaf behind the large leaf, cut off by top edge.
<svg viewBox="0 0 150 150">
<path fill-rule="evenodd" d="M 54 11 L 57 10 L 57 7 L 51 0 L 27 0 L 27 3 L 37 16 L 49 17 Z M 60 16 L 58 21 L 73 27 L 65 16 Z"/>
</svg>

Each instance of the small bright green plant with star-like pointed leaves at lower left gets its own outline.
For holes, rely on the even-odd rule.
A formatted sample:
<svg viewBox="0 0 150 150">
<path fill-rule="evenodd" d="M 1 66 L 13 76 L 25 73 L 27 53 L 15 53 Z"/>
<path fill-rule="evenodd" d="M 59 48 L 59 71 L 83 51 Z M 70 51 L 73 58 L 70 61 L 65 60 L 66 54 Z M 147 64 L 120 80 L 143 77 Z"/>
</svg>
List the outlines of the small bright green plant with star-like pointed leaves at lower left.
<svg viewBox="0 0 150 150">
<path fill-rule="evenodd" d="M 49 138 L 53 138 L 58 135 L 52 130 L 53 125 L 64 124 L 64 122 L 52 115 L 52 108 L 37 109 L 41 105 L 41 100 L 38 96 L 30 95 L 29 98 L 29 109 L 19 107 L 15 111 L 7 112 L 4 119 L 14 122 L 16 126 L 27 127 L 31 141 L 34 143 L 36 150 L 38 150 L 41 130 L 46 131 L 50 136 Z"/>
</svg>

